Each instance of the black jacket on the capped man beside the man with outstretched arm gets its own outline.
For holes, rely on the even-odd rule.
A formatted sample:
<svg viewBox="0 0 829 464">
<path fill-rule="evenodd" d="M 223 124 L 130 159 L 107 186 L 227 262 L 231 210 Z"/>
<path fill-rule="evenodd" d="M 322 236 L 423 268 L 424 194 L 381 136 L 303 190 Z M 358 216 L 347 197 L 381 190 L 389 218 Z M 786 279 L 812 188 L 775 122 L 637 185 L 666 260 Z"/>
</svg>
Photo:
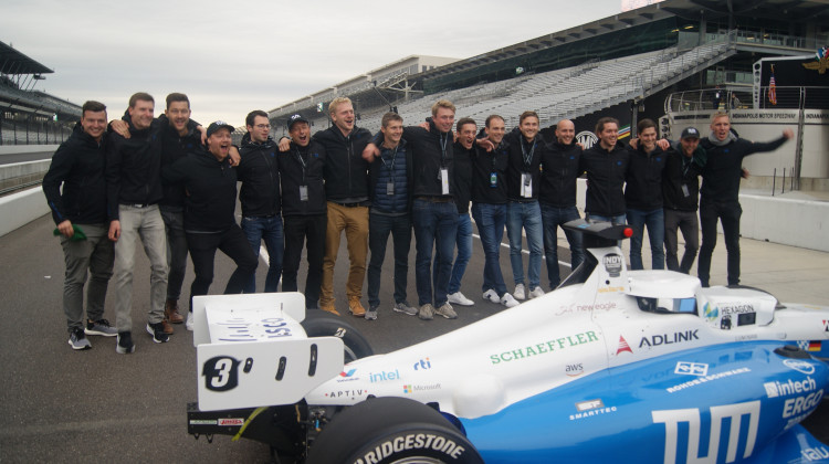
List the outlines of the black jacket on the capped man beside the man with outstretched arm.
<svg viewBox="0 0 829 464">
<path fill-rule="evenodd" d="M 697 146 L 691 158 L 682 155 L 679 143 L 665 154 L 662 172 L 662 207 L 667 210 L 696 211 L 700 202 L 700 175 L 705 166 L 705 150 Z M 684 188 L 683 188 L 684 187 Z"/>
</svg>

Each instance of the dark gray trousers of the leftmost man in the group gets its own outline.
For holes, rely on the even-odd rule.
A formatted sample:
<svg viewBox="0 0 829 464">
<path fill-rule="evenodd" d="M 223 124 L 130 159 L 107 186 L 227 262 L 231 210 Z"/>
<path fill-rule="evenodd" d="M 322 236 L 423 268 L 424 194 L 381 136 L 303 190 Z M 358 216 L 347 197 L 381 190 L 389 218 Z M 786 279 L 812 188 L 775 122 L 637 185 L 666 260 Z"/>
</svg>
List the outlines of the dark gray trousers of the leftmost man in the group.
<svg viewBox="0 0 829 464">
<path fill-rule="evenodd" d="M 106 286 L 113 276 L 113 242 L 107 239 L 104 224 L 76 224 L 86 234 L 86 240 L 73 242 L 61 235 L 61 246 L 66 261 L 63 278 L 63 313 L 70 333 L 84 327 L 84 285 L 86 286 L 86 317 L 104 318 Z"/>
</svg>

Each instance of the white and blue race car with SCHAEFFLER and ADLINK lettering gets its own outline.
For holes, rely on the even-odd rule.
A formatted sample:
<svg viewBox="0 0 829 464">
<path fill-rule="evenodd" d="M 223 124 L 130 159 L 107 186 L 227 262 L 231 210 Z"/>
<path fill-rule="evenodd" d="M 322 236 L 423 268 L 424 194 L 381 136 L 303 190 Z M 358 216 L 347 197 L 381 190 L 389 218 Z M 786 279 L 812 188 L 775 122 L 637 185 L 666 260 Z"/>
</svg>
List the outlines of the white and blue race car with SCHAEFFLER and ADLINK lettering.
<svg viewBox="0 0 829 464">
<path fill-rule="evenodd" d="M 195 299 L 188 431 L 277 462 L 827 462 L 800 422 L 829 384 L 829 307 L 629 271 L 625 225 L 573 221 L 554 292 L 371 356 L 302 294 Z"/>
</svg>

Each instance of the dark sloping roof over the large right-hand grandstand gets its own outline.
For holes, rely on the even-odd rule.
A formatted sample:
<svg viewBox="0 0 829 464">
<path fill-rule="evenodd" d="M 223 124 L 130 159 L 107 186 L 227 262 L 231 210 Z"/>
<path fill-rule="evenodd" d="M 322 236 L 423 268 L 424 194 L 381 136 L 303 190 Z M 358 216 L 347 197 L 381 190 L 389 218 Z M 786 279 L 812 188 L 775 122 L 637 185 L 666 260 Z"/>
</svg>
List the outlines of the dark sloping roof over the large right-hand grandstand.
<svg viewBox="0 0 829 464">
<path fill-rule="evenodd" d="M 829 24 L 829 0 L 665 0 L 460 60 L 424 72 L 419 77 L 429 80 L 466 71 L 542 49 L 559 46 L 672 17 L 714 21 L 733 19 L 735 15 L 795 22 L 805 21 L 808 18 L 811 21 Z"/>
</svg>

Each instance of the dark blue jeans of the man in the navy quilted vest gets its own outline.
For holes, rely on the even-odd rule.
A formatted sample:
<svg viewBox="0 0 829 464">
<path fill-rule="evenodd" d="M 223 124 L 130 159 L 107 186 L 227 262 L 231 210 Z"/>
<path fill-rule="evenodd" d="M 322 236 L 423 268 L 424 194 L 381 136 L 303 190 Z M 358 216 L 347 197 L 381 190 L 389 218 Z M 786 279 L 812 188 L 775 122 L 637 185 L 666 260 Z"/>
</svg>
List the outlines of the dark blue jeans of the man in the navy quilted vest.
<svg viewBox="0 0 829 464">
<path fill-rule="evenodd" d="M 406 303 L 406 285 L 409 273 L 409 249 L 411 247 L 411 218 L 405 215 L 368 214 L 368 306 L 380 306 L 380 275 L 386 259 L 389 234 L 395 241 L 395 303 Z"/>
</svg>

